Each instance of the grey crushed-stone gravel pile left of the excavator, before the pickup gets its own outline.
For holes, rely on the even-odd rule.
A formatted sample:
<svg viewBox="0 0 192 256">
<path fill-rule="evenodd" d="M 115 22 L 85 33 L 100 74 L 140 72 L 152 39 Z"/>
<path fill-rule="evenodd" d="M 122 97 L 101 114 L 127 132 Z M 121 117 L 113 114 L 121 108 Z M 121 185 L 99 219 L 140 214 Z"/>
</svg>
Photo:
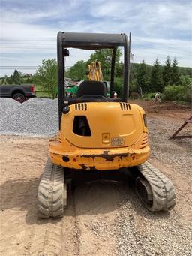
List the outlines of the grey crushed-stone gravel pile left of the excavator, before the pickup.
<svg viewBox="0 0 192 256">
<path fill-rule="evenodd" d="M 49 136 L 58 131 L 58 100 L 31 98 L 20 104 L 0 98 L 0 133 Z"/>
</svg>

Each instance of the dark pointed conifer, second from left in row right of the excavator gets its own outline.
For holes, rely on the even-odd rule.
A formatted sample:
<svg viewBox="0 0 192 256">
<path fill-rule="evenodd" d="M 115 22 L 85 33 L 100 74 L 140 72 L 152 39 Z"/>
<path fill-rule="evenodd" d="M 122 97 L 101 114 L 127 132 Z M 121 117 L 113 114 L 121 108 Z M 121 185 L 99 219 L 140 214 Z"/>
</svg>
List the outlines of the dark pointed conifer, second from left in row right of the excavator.
<svg viewBox="0 0 192 256">
<path fill-rule="evenodd" d="M 162 92 L 163 79 L 162 71 L 158 59 L 154 62 L 154 66 L 151 70 L 151 92 Z"/>
</svg>

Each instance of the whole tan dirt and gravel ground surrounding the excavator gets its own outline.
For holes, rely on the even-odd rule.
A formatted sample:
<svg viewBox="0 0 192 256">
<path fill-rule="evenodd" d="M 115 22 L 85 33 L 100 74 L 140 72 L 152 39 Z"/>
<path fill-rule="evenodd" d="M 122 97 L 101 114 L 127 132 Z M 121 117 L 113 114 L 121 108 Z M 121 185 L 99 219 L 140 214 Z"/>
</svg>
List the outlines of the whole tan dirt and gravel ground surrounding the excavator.
<svg viewBox="0 0 192 256">
<path fill-rule="evenodd" d="M 128 185 L 90 182 L 71 193 L 64 218 L 39 220 L 48 138 L 1 136 L 1 255 L 192 254 L 191 142 L 167 140 L 190 112 L 147 108 L 150 162 L 172 179 L 175 209 L 150 213 Z"/>
</svg>

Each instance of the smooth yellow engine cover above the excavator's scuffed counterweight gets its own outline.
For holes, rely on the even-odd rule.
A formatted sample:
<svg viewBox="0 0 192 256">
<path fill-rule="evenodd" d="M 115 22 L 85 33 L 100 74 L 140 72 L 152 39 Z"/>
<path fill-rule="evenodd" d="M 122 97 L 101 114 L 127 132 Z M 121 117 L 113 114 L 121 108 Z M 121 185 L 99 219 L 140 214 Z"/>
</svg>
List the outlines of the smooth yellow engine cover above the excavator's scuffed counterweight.
<svg viewBox="0 0 192 256">
<path fill-rule="evenodd" d="M 71 111 L 62 116 L 61 133 L 73 145 L 83 148 L 111 148 L 114 147 L 111 146 L 111 139 L 116 137 L 123 138 L 121 146 L 131 146 L 147 129 L 144 127 L 139 106 L 129 105 L 130 109 L 125 107 L 125 110 L 121 110 L 118 102 L 90 102 L 86 103 L 86 106 L 73 104 L 70 106 Z M 74 116 L 87 117 L 92 136 L 82 137 L 74 134 Z M 110 134 L 108 143 L 104 143 L 102 134 Z"/>
</svg>

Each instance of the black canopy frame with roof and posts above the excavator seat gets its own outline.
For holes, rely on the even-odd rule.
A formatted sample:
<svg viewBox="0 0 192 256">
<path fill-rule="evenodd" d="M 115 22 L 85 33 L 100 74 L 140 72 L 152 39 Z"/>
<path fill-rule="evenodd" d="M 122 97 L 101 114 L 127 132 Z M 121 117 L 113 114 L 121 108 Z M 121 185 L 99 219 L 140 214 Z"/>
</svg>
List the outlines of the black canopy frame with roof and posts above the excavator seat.
<svg viewBox="0 0 192 256">
<path fill-rule="evenodd" d="M 123 98 L 113 99 L 115 54 L 117 47 L 124 47 L 124 85 Z M 57 35 L 57 59 L 58 59 L 58 117 L 59 128 L 62 119 L 62 110 L 68 104 L 69 99 L 65 98 L 65 57 L 68 56 L 68 48 L 79 48 L 83 50 L 113 49 L 111 60 L 110 95 L 108 101 L 127 102 L 129 92 L 129 68 L 130 68 L 130 41 L 127 35 L 104 34 L 104 33 L 77 33 L 58 32 Z M 80 102 L 80 99 L 78 99 Z M 92 99 L 91 101 L 95 101 Z M 77 102 L 77 100 L 76 100 Z"/>
</svg>

